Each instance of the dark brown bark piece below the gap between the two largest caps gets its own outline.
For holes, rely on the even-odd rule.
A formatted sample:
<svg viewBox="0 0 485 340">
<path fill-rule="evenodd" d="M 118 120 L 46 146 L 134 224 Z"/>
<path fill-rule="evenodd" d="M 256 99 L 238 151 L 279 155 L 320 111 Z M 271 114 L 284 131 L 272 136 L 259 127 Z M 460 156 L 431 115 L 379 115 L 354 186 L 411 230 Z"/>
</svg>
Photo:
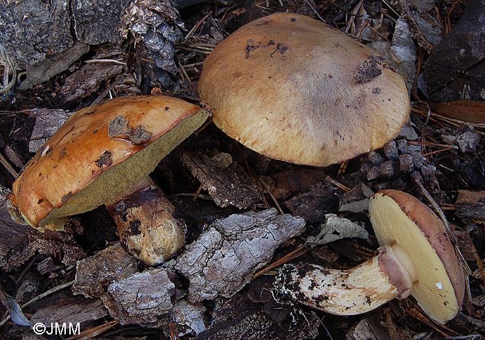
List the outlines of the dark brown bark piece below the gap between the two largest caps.
<svg viewBox="0 0 485 340">
<path fill-rule="evenodd" d="M 243 167 L 233 163 L 230 154 L 213 152 L 184 152 L 182 162 L 202 183 L 215 204 L 245 209 L 261 201 L 261 194 Z"/>
</svg>

